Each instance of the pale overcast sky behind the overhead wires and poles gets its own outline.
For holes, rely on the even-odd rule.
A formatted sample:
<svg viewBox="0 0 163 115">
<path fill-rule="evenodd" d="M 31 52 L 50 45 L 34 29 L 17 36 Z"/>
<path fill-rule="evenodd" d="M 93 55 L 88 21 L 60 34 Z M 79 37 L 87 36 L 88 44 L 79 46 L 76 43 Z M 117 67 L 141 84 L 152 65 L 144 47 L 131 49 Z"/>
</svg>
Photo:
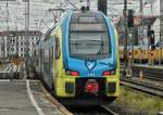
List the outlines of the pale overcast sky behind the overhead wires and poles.
<svg viewBox="0 0 163 115">
<path fill-rule="evenodd" d="M 71 0 L 77 7 L 80 5 L 79 0 Z M 83 0 L 82 4 L 86 4 L 86 0 Z M 109 15 L 122 15 L 124 0 L 108 0 L 108 14 Z M 97 10 L 97 0 L 90 0 L 91 10 Z M 128 0 L 128 9 L 134 9 L 139 12 L 139 0 Z M 153 5 L 145 5 L 145 14 L 159 15 L 159 0 L 143 0 L 143 2 L 153 2 Z M 118 4 L 115 4 L 118 3 Z M 30 0 L 30 29 L 46 30 L 53 21 L 52 12 L 49 9 L 53 8 L 73 8 L 65 0 Z M 10 29 L 24 29 L 25 28 L 25 2 L 22 0 L 9 2 L 9 27 Z M 151 9 L 153 8 L 153 9 Z M 0 1 L 0 31 L 5 30 L 7 23 L 7 2 Z"/>
</svg>

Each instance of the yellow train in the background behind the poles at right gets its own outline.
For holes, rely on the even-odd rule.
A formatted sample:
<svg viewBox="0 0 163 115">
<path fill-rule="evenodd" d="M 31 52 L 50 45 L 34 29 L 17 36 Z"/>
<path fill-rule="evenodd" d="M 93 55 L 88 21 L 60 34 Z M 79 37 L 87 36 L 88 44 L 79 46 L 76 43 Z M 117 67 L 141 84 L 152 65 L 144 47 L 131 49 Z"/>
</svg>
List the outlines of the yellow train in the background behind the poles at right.
<svg viewBox="0 0 163 115">
<path fill-rule="evenodd" d="M 124 47 L 118 48 L 120 60 L 124 63 Z M 131 48 L 127 48 L 127 55 L 134 63 L 146 64 L 152 62 L 153 64 L 163 64 L 163 49 L 159 42 L 149 47 L 134 46 L 133 50 Z"/>
</svg>

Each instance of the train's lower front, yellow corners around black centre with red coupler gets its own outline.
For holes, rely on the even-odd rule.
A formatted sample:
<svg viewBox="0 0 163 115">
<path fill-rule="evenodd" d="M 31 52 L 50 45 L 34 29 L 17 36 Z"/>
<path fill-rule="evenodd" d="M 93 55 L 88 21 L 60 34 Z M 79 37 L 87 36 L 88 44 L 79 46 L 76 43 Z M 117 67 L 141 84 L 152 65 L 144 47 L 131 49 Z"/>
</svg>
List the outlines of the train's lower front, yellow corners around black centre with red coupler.
<svg viewBox="0 0 163 115">
<path fill-rule="evenodd" d="M 118 78 L 59 78 L 57 82 L 55 97 L 66 105 L 109 104 L 120 94 Z"/>
</svg>

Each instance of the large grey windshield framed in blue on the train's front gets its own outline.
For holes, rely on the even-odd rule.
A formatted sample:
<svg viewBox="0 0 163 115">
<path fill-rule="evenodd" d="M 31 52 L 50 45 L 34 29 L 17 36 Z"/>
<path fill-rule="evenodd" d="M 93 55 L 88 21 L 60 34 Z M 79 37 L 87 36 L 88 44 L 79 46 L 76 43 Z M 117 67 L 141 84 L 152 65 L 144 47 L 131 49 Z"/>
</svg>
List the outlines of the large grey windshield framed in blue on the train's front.
<svg viewBox="0 0 163 115">
<path fill-rule="evenodd" d="M 76 16 L 76 15 L 75 15 Z M 70 29 L 71 58 L 102 60 L 110 56 L 110 38 L 103 17 L 100 15 L 72 16 Z"/>
</svg>

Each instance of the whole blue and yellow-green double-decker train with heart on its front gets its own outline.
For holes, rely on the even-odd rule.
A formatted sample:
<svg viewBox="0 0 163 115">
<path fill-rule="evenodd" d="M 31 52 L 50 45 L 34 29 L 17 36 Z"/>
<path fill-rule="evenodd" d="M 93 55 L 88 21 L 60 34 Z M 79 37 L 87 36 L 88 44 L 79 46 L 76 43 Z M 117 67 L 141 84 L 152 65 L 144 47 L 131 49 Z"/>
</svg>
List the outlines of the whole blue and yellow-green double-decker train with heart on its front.
<svg viewBox="0 0 163 115">
<path fill-rule="evenodd" d="M 70 10 L 36 42 L 33 64 L 63 104 L 108 104 L 120 95 L 117 41 L 102 12 Z"/>
</svg>

